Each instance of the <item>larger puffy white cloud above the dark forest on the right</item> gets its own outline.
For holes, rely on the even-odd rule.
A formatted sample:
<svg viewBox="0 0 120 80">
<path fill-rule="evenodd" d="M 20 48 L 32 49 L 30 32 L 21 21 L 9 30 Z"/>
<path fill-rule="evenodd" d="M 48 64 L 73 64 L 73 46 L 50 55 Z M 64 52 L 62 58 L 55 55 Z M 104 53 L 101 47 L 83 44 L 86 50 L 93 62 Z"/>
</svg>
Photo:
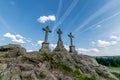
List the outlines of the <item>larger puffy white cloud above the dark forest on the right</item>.
<svg viewBox="0 0 120 80">
<path fill-rule="evenodd" d="M 98 47 L 108 47 L 111 45 L 117 44 L 117 41 L 104 41 L 104 40 L 98 40 Z"/>
</svg>

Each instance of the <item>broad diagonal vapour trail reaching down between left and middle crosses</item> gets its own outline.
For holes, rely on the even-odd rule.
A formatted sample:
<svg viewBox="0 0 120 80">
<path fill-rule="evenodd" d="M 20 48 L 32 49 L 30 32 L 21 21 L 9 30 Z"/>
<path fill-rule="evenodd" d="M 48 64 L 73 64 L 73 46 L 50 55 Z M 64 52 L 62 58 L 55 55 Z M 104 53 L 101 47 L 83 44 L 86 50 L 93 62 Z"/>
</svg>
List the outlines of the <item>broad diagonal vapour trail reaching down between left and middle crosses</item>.
<svg viewBox="0 0 120 80">
<path fill-rule="evenodd" d="M 77 5 L 79 0 L 73 0 L 71 5 L 68 7 L 66 12 L 63 14 L 63 16 L 60 18 L 60 20 L 54 25 L 52 31 L 54 30 L 68 17 L 68 15 L 71 13 L 71 11 L 74 9 L 74 7 Z"/>
</svg>

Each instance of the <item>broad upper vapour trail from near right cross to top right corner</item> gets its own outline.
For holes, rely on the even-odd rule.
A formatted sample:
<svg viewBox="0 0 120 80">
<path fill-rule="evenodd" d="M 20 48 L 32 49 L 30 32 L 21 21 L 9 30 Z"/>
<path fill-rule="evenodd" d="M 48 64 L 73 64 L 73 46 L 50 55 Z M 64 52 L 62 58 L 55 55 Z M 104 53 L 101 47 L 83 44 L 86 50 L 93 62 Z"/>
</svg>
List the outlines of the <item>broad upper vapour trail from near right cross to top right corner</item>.
<svg viewBox="0 0 120 80">
<path fill-rule="evenodd" d="M 90 15 L 90 17 L 88 17 L 87 20 L 85 20 L 83 22 L 83 24 L 78 26 L 78 28 L 76 28 L 74 32 L 78 32 L 83 27 L 85 27 L 87 24 L 89 24 L 92 20 L 94 20 L 96 17 L 98 17 L 99 15 L 103 14 L 104 12 L 108 11 L 113 6 L 118 5 L 118 4 L 120 4 L 120 2 L 118 2 L 118 0 L 111 0 L 111 1 L 109 1 L 107 4 L 105 4 L 99 10 L 97 10 L 93 15 Z"/>
</svg>

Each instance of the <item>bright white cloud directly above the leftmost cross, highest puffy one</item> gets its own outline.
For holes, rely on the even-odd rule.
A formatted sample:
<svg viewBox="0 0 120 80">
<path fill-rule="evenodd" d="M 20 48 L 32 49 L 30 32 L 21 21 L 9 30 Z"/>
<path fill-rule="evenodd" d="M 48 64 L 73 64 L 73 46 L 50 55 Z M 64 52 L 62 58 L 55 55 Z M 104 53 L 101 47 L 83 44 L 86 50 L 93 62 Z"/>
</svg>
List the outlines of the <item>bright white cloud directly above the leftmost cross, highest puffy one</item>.
<svg viewBox="0 0 120 80">
<path fill-rule="evenodd" d="M 56 17 L 54 15 L 40 16 L 38 22 L 45 23 L 46 21 L 55 21 Z"/>
</svg>

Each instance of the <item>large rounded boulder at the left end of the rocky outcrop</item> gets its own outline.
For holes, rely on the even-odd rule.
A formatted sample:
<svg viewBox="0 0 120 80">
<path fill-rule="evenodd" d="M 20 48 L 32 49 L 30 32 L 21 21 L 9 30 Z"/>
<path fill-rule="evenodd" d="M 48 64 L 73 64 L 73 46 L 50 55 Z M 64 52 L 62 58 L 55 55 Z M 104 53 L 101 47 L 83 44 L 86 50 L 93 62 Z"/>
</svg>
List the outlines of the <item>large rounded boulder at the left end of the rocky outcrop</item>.
<svg viewBox="0 0 120 80">
<path fill-rule="evenodd" d="M 17 57 L 19 55 L 24 55 L 26 50 L 20 45 L 9 44 L 5 46 L 0 46 L 0 57 L 2 58 L 11 58 Z"/>
</svg>

